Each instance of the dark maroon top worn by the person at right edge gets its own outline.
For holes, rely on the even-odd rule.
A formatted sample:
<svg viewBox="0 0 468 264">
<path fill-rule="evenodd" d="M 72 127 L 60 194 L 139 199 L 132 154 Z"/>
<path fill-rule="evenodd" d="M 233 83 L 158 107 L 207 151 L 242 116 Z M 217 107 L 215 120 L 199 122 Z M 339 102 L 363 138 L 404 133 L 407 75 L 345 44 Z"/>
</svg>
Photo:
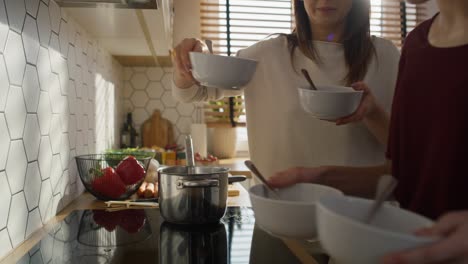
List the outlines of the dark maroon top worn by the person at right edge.
<svg viewBox="0 0 468 264">
<path fill-rule="evenodd" d="M 468 45 L 431 46 L 433 20 L 403 47 L 387 157 L 402 207 L 434 219 L 468 209 Z"/>
</svg>

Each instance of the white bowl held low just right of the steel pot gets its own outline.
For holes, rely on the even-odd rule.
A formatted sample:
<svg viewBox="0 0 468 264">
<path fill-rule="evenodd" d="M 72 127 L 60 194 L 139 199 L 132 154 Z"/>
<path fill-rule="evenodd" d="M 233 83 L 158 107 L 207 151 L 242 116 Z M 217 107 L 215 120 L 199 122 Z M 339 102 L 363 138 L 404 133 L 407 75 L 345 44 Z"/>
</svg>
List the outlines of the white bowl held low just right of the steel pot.
<svg viewBox="0 0 468 264">
<path fill-rule="evenodd" d="M 315 204 L 319 198 L 322 195 L 342 195 L 336 189 L 310 183 L 300 183 L 278 191 L 280 200 L 267 198 L 266 189 L 261 184 L 250 188 L 255 221 L 274 235 L 299 239 L 317 237 Z"/>
</svg>

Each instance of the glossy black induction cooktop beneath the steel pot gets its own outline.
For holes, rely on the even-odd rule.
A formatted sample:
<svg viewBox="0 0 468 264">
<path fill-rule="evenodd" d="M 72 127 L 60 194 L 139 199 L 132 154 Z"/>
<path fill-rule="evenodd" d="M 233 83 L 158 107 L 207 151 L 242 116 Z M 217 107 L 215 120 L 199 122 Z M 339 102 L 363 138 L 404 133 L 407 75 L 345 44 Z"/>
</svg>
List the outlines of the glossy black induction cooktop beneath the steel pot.
<svg viewBox="0 0 468 264">
<path fill-rule="evenodd" d="M 325 255 L 310 251 L 327 263 Z M 219 224 L 207 226 L 164 222 L 157 209 L 75 211 L 18 263 L 300 262 L 282 240 L 255 225 L 251 208 L 230 207 Z"/>
</svg>

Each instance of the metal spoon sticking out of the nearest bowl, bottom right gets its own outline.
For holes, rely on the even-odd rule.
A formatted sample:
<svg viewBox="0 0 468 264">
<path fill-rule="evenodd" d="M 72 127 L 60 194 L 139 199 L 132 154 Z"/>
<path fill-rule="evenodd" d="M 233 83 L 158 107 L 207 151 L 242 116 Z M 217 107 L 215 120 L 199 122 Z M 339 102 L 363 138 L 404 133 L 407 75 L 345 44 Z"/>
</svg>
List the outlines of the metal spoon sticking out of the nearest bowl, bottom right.
<svg viewBox="0 0 468 264">
<path fill-rule="evenodd" d="M 367 213 L 364 222 L 370 224 L 374 220 L 375 215 L 382 208 L 383 203 L 390 197 L 397 186 L 398 181 L 390 175 L 383 175 L 377 183 L 377 192 L 375 194 L 375 201 L 371 209 Z"/>
</svg>

